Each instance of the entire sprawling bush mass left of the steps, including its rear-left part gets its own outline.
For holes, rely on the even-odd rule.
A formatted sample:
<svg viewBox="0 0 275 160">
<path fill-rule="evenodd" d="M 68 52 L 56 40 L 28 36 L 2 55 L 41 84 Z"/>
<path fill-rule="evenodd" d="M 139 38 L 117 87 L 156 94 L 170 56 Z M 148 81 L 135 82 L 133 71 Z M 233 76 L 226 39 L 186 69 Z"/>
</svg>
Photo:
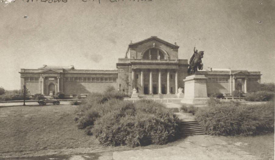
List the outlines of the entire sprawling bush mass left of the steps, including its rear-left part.
<svg viewBox="0 0 275 160">
<path fill-rule="evenodd" d="M 179 119 L 154 101 L 122 101 L 116 91 L 93 94 L 79 106 L 79 129 L 104 146 L 166 144 L 179 137 Z"/>
</svg>

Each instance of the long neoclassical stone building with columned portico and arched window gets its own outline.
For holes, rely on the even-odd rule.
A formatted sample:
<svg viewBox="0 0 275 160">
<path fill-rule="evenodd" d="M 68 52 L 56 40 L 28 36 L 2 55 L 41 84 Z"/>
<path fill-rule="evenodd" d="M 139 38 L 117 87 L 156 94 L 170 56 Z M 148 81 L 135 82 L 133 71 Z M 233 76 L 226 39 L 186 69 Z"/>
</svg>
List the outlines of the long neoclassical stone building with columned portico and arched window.
<svg viewBox="0 0 275 160">
<path fill-rule="evenodd" d="M 178 59 L 179 46 L 156 36 L 130 43 L 125 58 L 119 58 L 115 70 L 75 69 L 74 66 L 47 66 L 38 69 L 21 69 L 21 88 L 26 85 L 30 94 L 53 95 L 65 93 L 76 97 L 92 92 L 103 92 L 113 86 L 131 95 L 136 88 L 140 96 L 147 94 L 170 95 L 184 88 L 189 76 L 188 59 Z M 186 53 L 185 57 L 189 57 Z M 260 72 L 231 69 L 206 69 L 196 74 L 207 77 L 207 94 L 231 94 L 234 90 L 244 93 L 260 83 Z"/>
</svg>

